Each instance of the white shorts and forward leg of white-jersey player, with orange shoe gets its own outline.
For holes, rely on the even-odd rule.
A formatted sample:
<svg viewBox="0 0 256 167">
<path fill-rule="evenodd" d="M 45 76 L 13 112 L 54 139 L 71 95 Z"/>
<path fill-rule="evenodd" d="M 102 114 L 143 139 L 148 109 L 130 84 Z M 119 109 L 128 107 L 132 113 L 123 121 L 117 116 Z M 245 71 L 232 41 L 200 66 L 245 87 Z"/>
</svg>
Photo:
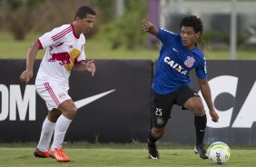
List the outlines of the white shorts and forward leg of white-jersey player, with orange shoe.
<svg viewBox="0 0 256 167">
<path fill-rule="evenodd" d="M 64 155 L 62 143 L 64 135 L 76 113 L 76 107 L 67 93 L 68 84 L 57 82 L 36 83 L 37 93 L 44 99 L 50 122 L 55 122 L 54 141 L 51 147 L 54 158 L 59 162 L 69 162 L 70 159 Z M 44 140 L 43 140 L 44 141 Z"/>
</svg>

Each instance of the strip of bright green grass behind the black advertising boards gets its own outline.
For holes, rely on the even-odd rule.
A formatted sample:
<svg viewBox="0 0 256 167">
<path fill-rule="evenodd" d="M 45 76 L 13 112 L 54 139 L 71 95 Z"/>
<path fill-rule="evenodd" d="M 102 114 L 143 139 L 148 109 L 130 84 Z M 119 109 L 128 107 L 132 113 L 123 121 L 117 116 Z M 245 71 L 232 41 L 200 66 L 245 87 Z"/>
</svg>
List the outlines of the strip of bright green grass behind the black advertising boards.
<svg viewBox="0 0 256 167">
<path fill-rule="evenodd" d="M 11 34 L 0 31 L 0 58 L 20 59 L 26 57 L 29 44 L 33 43 L 40 34 L 28 34 L 24 41 L 15 41 Z M 229 60 L 230 50 L 226 49 L 204 49 L 208 60 Z M 159 49 L 137 47 L 134 50 L 119 48 L 111 49 L 110 41 L 102 36 L 89 39 L 85 44 L 85 54 L 89 59 L 156 59 Z M 36 58 L 42 58 L 44 51 L 39 51 Z M 237 52 L 238 60 L 256 60 L 256 49 L 240 49 Z"/>
</svg>

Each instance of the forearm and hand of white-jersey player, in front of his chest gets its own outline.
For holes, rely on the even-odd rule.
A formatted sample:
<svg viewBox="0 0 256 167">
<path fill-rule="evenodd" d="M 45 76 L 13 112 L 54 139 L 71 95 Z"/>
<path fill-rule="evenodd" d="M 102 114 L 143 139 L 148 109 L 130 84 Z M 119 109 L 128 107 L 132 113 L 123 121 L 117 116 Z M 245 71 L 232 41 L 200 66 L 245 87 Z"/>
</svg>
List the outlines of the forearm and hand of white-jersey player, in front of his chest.
<svg viewBox="0 0 256 167">
<path fill-rule="evenodd" d="M 86 71 L 87 70 L 88 72 L 91 72 L 92 75 L 94 76 L 94 73 L 96 71 L 94 60 L 90 60 L 87 62 L 80 61 L 79 63 L 74 64 L 74 70 L 76 70 L 76 71 Z"/>
</svg>

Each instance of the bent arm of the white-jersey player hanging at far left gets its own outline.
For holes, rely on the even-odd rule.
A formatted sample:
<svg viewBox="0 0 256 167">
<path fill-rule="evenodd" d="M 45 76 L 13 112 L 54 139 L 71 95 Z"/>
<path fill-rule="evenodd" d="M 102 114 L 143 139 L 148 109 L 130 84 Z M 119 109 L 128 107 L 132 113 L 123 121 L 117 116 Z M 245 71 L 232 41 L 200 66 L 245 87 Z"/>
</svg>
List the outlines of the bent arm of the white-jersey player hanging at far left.
<svg viewBox="0 0 256 167">
<path fill-rule="evenodd" d="M 38 44 L 37 41 L 35 41 L 34 44 L 30 44 L 26 55 L 26 68 L 25 71 L 20 75 L 20 80 L 22 82 L 28 83 L 30 78 L 32 78 L 34 59 L 39 49 L 40 44 Z"/>
</svg>

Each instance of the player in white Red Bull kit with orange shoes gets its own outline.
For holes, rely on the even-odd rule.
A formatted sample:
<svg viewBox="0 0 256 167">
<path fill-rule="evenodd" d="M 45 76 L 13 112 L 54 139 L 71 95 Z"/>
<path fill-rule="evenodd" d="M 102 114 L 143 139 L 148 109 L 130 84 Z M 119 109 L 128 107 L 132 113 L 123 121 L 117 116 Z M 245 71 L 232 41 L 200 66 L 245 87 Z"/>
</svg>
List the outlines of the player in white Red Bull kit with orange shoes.
<svg viewBox="0 0 256 167">
<path fill-rule="evenodd" d="M 42 126 L 35 157 L 53 157 L 58 162 L 69 162 L 64 154 L 64 135 L 72 122 L 77 108 L 68 94 L 71 70 L 89 71 L 94 76 L 94 60 L 85 61 L 84 34 L 89 32 L 96 19 L 94 9 L 81 6 L 70 25 L 62 25 L 43 34 L 28 49 L 26 69 L 21 74 L 22 82 L 33 77 L 34 58 L 37 51 L 46 49 L 36 79 L 36 92 L 44 99 L 48 114 Z M 51 148 L 50 142 L 54 133 Z"/>
</svg>

